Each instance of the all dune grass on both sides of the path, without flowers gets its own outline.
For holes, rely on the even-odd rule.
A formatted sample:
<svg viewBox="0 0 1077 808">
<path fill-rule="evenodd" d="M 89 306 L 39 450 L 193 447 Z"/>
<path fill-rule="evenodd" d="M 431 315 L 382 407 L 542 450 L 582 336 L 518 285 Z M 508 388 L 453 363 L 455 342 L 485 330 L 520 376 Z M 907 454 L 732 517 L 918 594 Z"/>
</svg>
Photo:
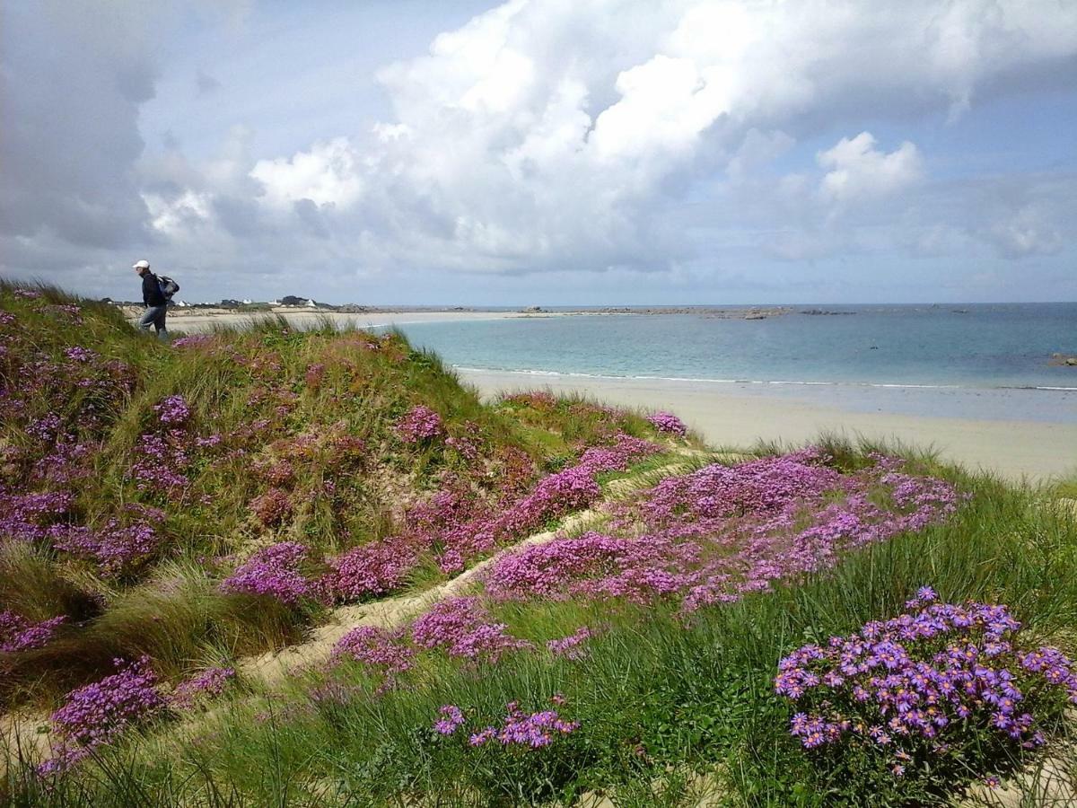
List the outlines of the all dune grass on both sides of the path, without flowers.
<svg viewBox="0 0 1077 808">
<path fill-rule="evenodd" d="M 0 609 L 33 619 L 70 616 L 45 646 L 0 654 L 0 694 L 11 706 L 47 709 L 67 688 L 107 672 L 115 656 L 148 654 L 159 674 L 179 681 L 300 639 L 325 619 L 324 607 L 290 609 L 218 589 L 238 559 L 266 543 L 303 540 L 336 553 L 393 535 L 404 505 L 436 490 L 447 474 L 470 474 L 476 490 L 490 491 L 514 469 L 528 469 L 533 480 L 565 466 L 579 447 L 611 430 L 655 437 L 641 414 L 611 414 L 586 399 L 510 396 L 484 404 L 435 356 L 412 350 L 398 334 L 370 351 L 356 347 L 369 338 L 362 332 L 339 333 L 323 323 L 296 333 L 267 318 L 248 329 L 221 330 L 208 347 L 174 350 L 134 334 L 111 307 L 39 291 L 38 301 L 18 299 L 13 287 L 0 283 L 3 309 L 15 312 L 25 331 L 22 350 L 32 344 L 56 357 L 69 346 L 66 340 L 76 339 L 132 368 L 129 390 L 108 388 L 112 398 L 102 401 L 109 408 L 78 394 L 57 398 L 64 390 L 47 386 L 27 398 L 31 415 L 59 407 L 71 423 L 101 412 L 99 422 L 79 427 L 94 455 L 76 516 L 97 524 L 125 503 L 165 505 L 168 543 L 167 552 L 138 569 L 109 576 L 38 544 L 0 542 Z M 83 308 L 82 326 L 57 330 L 46 306 L 72 304 Z M 324 365 L 317 384 L 304 381 L 317 365 Z M 0 362 L 8 384 L 12 373 L 10 361 Z M 196 457 L 190 492 L 172 502 L 138 490 L 124 470 L 137 458 L 139 436 L 152 428 L 154 405 L 177 392 L 191 404 L 200 436 L 240 435 L 258 419 L 268 419 L 270 428 L 235 444 L 243 454 L 229 460 Z M 450 434 L 476 438 L 480 460 L 468 465 L 461 455 L 396 442 L 395 419 L 419 403 L 435 409 Z M 0 448 L 36 451 L 24 426 L 3 415 Z M 321 444 L 297 449 L 297 438 L 310 433 L 359 438 L 364 451 L 349 459 Z M 248 675 L 200 711 L 134 729 L 55 780 L 39 779 L 32 755 L 9 736 L 0 752 L 6 757 L 0 802 L 523 806 L 606 795 L 619 806 L 690 806 L 705 792 L 710 805 L 730 808 L 839 804 L 840 784 L 813 767 L 787 732 L 791 707 L 772 685 L 779 659 L 806 642 L 825 642 L 899 613 L 923 585 L 947 601 L 1006 603 L 1035 638 L 1074 653 L 1077 515 L 1045 505 L 1072 496 L 1072 480 L 1049 489 L 1016 487 L 909 447 L 835 436 L 820 443 L 844 470 L 869 464 L 872 452 L 901 454 L 910 469 L 952 480 L 967 500 L 945 523 L 852 553 L 825 574 L 689 618 L 672 605 L 621 601 L 495 607 L 496 619 L 514 637 L 540 649 L 581 625 L 602 626 L 578 661 L 527 653 L 476 668 L 423 655 L 407 686 L 388 691 L 358 664 L 316 666 L 271 684 Z M 758 445 L 749 454 L 786 448 Z M 286 489 L 295 507 L 280 524 L 263 525 L 249 503 L 266 490 L 267 470 L 285 460 L 289 475 L 272 485 Z M 679 452 L 606 473 L 600 483 L 607 499 L 618 499 L 628 483 L 657 483 L 671 463 L 686 473 L 713 461 L 735 459 L 703 451 L 693 438 Z M 325 490 L 326 480 L 335 480 L 335 498 L 313 493 Z M 17 482 L 12 474 L 0 478 L 8 486 Z M 428 559 L 411 575 L 409 590 L 444 581 Z M 581 727 L 542 754 L 470 749 L 431 729 L 443 705 L 461 707 L 468 726 L 478 728 L 496 723 L 510 701 L 541 710 L 555 696 L 563 697 L 559 709 Z M 1069 732 L 1057 727 L 1051 754 L 1052 765 L 1073 772 Z M 1012 761 L 1031 767 L 1019 785 L 1022 798 L 1034 799 L 1041 764 Z M 969 782 L 952 784 L 954 800 Z M 862 797 L 855 804 L 911 804 Z"/>
</svg>

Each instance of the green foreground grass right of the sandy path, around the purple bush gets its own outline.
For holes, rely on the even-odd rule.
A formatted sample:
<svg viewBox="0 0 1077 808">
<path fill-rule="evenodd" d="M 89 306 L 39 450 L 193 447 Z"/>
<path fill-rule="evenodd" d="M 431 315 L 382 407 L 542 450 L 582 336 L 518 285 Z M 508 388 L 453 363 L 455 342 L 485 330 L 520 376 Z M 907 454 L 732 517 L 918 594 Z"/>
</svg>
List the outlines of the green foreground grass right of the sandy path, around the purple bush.
<svg viewBox="0 0 1077 808">
<path fill-rule="evenodd" d="M 1045 511 L 1036 491 L 951 474 L 971 499 L 945 525 L 857 552 L 826 575 L 701 612 L 687 626 L 671 611 L 626 604 L 501 614 L 536 642 L 609 623 L 585 661 L 520 655 L 477 675 L 446 659 L 422 670 L 416 686 L 377 697 L 376 683 L 352 666 L 334 681 L 355 691 L 313 707 L 304 694 L 326 674 L 312 672 L 283 691 L 236 697 L 182 749 L 167 733 L 140 737 L 109 752 L 107 765 L 159 795 L 151 803 L 159 805 L 212 790 L 244 805 L 393 805 L 405 794 L 430 805 L 567 805 L 596 791 L 618 805 L 688 805 L 701 788 L 717 805 L 829 805 L 788 737 L 788 707 L 772 692 L 777 661 L 793 647 L 898 613 L 931 583 L 946 600 L 1008 603 L 1037 637 L 1074 650 L 1077 579 L 1066 573 L 1077 561 L 1077 524 Z M 540 708 L 554 694 L 586 732 L 545 768 L 467 754 L 429 730 L 443 703 L 490 721 L 507 701 Z M 95 777 L 100 768 L 87 767 L 72 788 L 101 798 L 95 789 L 114 784 L 93 785 Z M 118 804 L 109 798 L 100 804 Z"/>
</svg>

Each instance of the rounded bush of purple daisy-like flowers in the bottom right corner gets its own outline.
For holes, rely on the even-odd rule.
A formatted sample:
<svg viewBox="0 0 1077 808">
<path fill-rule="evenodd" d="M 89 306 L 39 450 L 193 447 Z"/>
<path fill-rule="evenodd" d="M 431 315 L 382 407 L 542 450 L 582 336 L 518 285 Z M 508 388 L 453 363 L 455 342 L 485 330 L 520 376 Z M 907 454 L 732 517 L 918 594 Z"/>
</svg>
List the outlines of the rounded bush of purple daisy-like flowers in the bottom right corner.
<svg viewBox="0 0 1077 808">
<path fill-rule="evenodd" d="M 1077 705 L 1077 668 L 1057 649 L 1021 650 L 1005 605 L 940 603 L 931 587 L 907 605 L 781 660 L 774 688 L 796 705 L 791 733 L 806 749 L 853 748 L 896 777 L 927 777 L 1037 749 L 1043 722 Z"/>
</svg>

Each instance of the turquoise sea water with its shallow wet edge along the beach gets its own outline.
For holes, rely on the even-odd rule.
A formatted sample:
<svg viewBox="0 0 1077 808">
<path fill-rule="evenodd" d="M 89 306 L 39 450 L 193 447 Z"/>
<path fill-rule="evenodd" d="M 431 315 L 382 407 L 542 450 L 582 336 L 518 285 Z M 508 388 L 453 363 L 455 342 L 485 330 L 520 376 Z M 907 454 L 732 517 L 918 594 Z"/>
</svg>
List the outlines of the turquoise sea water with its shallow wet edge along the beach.
<svg viewBox="0 0 1077 808">
<path fill-rule="evenodd" d="M 1049 364 L 1077 354 L 1077 304 L 799 308 L 816 307 L 764 320 L 573 315 L 402 330 L 457 367 L 533 374 L 536 386 L 553 373 L 699 380 L 857 409 L 1077 421 L 1077 368 Z M 1017 390 L 1036 392 L 1003 394 Z"/>
</svg>

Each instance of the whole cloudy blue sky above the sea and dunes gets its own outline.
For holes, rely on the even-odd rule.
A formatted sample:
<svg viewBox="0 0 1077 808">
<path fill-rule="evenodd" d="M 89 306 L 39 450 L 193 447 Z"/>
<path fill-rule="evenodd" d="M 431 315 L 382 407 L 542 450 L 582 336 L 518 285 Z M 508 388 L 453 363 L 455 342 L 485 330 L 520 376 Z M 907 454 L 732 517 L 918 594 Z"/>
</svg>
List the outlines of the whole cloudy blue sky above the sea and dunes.
<svg viewBox="0 0 1077 808">
<path fill-rule="evenodd" d="M 1077 0 L 5 0 L 0 275 L 1077 301 Z"/>
</svg>

